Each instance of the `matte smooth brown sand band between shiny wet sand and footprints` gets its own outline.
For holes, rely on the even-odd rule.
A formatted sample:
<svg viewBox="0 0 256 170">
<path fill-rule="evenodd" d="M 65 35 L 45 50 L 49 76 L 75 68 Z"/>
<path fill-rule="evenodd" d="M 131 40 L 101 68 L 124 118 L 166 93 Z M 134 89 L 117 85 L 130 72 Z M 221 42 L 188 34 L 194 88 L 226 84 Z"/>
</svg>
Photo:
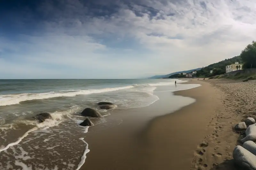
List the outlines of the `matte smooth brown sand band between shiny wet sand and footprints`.
<svg viewBox="0 0 256 170">
<path fill-rule="evenodd" d="M 216 110 L 220 110 L 222 104 L 218 89 L 207 82 L 199 82 L 191 79 L 184 84 L 201 84 L 201 86 L 173 92 L 176 96 L 196 99 L 196 102 L 168 115 L 159 116 L 148 124 L 145 140 L 151 141 L 150 147 L 155 150 L 154 163 L 150 169 L 186 170 L 191 168 L 193 160 L 200 159 L 197 158 L 198 153 L 203 149 L 200 145 L 206 143 L 205 136 L 214 131 L 211 123 Z M 157 148 L 158 146 L 161 147 Z M 203 169 L 204 166 L 208 165 L 202 164 L 195 166 L 194 169 Z"/>
</svg>

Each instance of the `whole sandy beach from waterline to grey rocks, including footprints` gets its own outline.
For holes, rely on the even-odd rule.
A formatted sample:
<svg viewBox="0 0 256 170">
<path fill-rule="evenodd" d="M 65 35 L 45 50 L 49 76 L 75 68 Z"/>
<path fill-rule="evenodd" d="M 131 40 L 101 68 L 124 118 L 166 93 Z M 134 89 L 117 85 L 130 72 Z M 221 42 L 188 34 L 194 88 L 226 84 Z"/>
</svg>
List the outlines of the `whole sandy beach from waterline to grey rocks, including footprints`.
<svg viewBox="0 0 256 170">
<path fill-rule="evenodd" d="M 171 92 L 148 107 L 116 109 L 108 124 L 89 128 L 84 170 L 231 170 L 240 135 L 233 129 L 255 115 L 255 82 L 196 80 L 202 86 Z M 196 102 L 191 100 L 196 99 Z M 168 100 L 169 99 L 169 100 Z M 170 102 L 192 103 L 176 110 Z"/>
</svg>

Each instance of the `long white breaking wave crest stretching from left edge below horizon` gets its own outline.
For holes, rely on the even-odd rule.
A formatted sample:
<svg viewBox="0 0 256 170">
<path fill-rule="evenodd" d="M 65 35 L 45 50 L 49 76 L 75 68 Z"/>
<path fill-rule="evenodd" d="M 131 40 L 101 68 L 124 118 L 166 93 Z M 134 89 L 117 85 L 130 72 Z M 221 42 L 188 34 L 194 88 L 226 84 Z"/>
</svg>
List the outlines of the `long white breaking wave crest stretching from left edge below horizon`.
<svg viewBox="0 0 256 170">
<path fill-rule="evenodd" d="M 70 97 L 70 96 L 83 95 L 83 94 L 112 92 L 112 91 L 117 91 L 117 90 L 130 89 L 133 87 L 134 86 L 132 86 L 132 85 L 128 85 L 128 86 L 116 87 L 116 88 L 77 90 L 77 91 L 68 91 L 68 92 L 62 91 L 62 92 L 22 93 L 22 94 L 0 95 L 0 106 L 19 104 L 22 101 L 28 101 L 28 100 L 41 100 L 41 99 L 49 99 L 49 98 L 54 98 L 54 97 Z"/>
</svg>

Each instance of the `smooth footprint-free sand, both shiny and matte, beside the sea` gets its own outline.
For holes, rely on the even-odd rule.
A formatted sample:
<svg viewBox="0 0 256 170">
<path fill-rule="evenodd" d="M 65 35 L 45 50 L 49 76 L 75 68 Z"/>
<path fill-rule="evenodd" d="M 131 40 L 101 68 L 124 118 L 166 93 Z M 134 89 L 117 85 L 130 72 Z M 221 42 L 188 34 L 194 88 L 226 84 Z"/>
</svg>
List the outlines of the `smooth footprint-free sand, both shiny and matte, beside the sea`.
<svg viewBox="0 0 256 170">
<path fill-rule="evenodd" d="M 114 110 L 107 116 L 107 125 L 89 129 L 85 140 L 91 151 L 82 169 L 190 169 L 198 146 L 214 130 L 212 118 L 223 109 L 219 90 L 200 84 L 174 92 L 175 101 L 171 101 L 172 92 L 157 89 L 160 100 L 148 107 Z M 171 103 L 176 103 L 175 108 Z M 179 107 L 179 103 L 190 105 Z"/>
</svg>

